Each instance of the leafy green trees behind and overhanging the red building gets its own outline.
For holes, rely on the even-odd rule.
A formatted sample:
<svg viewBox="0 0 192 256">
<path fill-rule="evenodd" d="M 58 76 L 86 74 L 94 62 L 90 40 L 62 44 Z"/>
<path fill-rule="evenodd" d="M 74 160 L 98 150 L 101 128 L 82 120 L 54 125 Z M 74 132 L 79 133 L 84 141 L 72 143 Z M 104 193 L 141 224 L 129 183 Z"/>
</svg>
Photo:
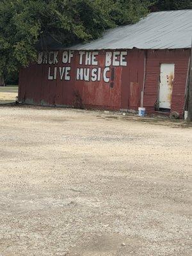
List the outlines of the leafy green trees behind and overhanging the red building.
<svg viewBox="0 0 192 256">
<path fill-rule="evenodd" d="M 1 0 L 0 76 L 36 60 L 37 51 L 98 38 L 148 13 L 150 0 Z"/>
</svg>

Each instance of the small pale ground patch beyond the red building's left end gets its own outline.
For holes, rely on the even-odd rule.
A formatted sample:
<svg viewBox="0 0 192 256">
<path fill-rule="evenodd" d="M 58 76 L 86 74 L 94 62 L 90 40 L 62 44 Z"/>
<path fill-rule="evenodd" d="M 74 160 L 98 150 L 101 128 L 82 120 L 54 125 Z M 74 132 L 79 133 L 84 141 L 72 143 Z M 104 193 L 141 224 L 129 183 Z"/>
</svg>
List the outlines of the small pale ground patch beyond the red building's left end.
<svg viewBox="0 0 192 256">
<path fill-rule="evenodd" d="M 18 95 L 18 86 L 0 86 L 0 104 L 15 102 Z"/>
</svg>

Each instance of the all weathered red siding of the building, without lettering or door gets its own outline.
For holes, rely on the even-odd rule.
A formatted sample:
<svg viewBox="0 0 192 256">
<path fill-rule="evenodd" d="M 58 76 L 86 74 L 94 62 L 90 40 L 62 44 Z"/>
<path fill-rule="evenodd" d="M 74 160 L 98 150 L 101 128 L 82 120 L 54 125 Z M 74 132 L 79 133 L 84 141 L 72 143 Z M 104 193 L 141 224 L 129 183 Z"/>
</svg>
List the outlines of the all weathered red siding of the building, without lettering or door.
<svg viewBox="0 0 192 256">
<path fill-rule="evenodd" d="M 110 66 L 109 83 L 104 82 L 102 78 L 100 81 L 94 82 L 77 81 L 76 79 L 77 68 L 100 67 L 102 73 L 105 68 L 106 51 L 99 51 L 98 66 L 79 65 L 78 51 L 74 52 L 70 64 L 63 64 L 61 61 L 63 51 L 60 51 L 59 62 L 55 65 L 33 63 L 28 68 L 20 70 L 19 100 L 44 106 L 137 110 L 141 104 L 145 52 L 147 52 L 147 61 L 143 106 L 147 108 L 147 113 L 158 113 L 154 104 L 158 95 L 161 63 L 175 63 L 171 111 L 177 111 L 182 116 L 189 50 L 128 50 L 125 58 L 127 66 Z M 56 80 L 47 79 L 49 67 L 59 68 L 69 65 L 71 67 L 70 81 L 64 81 L 58 76 Z"/>
</svg>

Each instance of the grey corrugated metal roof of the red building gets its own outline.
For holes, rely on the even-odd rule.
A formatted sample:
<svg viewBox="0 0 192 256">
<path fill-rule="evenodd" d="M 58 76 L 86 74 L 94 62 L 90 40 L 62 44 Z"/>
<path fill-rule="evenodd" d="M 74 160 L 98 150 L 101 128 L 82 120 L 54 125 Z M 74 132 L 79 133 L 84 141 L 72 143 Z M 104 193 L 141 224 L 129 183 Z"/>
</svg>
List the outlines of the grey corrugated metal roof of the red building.
<svg viewBox="0 0 192 256">
<path fill-rule="evenodd" d="M 136 24 L 109 29 L 102 38 L 70 49 L 189 48 L 191 36 L 192 10 L 154 12 Z"/>
</svg>

